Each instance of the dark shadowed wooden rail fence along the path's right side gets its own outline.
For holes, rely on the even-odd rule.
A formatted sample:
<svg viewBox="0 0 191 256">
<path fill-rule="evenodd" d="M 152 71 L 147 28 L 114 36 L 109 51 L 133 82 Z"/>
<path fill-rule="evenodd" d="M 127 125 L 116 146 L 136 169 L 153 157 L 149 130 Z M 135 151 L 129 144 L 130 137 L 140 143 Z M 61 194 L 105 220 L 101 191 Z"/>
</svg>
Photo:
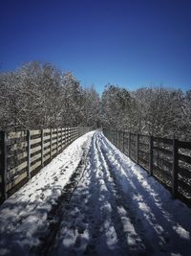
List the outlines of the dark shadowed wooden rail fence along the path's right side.
<svg viewBox="0 0 191 256">
<path fill-rule="evenodd" d="M 191 142 L 103 128 L 122 152 L 191 206 Z"/>
</svg>

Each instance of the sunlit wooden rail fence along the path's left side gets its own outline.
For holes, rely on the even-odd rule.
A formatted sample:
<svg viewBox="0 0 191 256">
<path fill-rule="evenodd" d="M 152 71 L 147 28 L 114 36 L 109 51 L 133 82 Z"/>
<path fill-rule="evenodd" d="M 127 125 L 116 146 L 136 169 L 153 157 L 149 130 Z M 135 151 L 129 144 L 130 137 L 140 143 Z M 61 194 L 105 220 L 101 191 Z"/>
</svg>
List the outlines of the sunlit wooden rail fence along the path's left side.
<svg viewBox="0 0 191 256">
<path fill-rule="evenodd" d="M 92 128 L 0 131 L 0 202 Z"/>
</svg>

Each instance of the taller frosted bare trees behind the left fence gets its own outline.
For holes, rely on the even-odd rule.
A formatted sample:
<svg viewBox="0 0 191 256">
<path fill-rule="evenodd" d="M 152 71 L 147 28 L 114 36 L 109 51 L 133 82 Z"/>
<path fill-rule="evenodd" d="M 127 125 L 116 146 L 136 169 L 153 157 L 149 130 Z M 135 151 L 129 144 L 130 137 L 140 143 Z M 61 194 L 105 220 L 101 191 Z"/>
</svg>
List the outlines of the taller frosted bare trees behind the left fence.
<svg viewBox="0 0 191 256">
<path fill-rule="evenodd" d="M 0 74 L 0 129 L 96 126 L 99 96 L 72 73 L 33 61 Z"/>
</svg>

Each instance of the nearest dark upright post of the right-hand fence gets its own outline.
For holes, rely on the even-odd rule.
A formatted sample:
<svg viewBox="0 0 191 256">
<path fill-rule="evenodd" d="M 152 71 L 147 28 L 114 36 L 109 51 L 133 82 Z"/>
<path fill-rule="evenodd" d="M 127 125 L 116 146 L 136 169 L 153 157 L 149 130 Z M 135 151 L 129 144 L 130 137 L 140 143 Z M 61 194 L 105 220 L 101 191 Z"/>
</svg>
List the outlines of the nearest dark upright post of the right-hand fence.
<svg viewBox="0 0 191 256">
<path fill-rule="evenodd" d="M 173 198 L 177 198 L 178 192 L 178 140 L 173 139 L 173 173 L 172 173 L 172 193 Z"/>
</svg>

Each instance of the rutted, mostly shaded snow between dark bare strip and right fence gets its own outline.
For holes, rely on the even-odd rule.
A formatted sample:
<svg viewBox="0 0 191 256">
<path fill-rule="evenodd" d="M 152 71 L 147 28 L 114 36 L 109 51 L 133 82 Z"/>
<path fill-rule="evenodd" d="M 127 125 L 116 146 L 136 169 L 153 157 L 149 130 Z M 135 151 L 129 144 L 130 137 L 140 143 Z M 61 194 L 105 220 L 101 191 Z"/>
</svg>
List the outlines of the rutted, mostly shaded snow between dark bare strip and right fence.
<svg viewBox="0 0 191 256">
<path fill-rule="evenodd" d="M 50 256 L 190 255 L 190 209 L 100 132 L 87 161 Z"/>
</svg>

